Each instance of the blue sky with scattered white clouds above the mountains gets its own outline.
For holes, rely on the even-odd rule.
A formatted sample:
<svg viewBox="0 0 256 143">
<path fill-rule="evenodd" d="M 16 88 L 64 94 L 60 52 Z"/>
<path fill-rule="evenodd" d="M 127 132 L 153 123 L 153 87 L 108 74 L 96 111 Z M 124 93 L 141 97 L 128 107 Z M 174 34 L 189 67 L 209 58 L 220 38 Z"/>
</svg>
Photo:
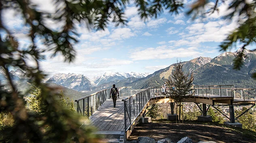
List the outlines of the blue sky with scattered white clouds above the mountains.
<svg viewBox="0 0 256 143">
<path fill-rule="evenodd" d="M 32 1 L 38 4 L 38 9 L 54 12 L 51 0 Z M 214 58 L 222 54 L 219 52 L 220 42 L 237 28 L 236 18 L 223 19 L 228 14 L 229 1 L 226 1 L 220 3 L 219 13 L 192 20 L 186 11 L 193 1 L 185 0 L 185 8 L 178 15 L 171 15 L 164 10 L 157 19 L 146 21 L 139 18 L 138 8 L 131 3 L 125 10 L 127 25 L 115 27 L 110 23 L 105 31 L 88 29 L 83 23 L 77 24 L 79 42 L 74 45 L 76 60 L 64 63 L 61 56 L 47 58 L 40 62 L 41 68 L 49 76 L 55 73 L 76 73 L 92 78 L 105 72 L 154 73 L 175 63 L 177 59 L 188 61 L 199 56 Z M 213 4 L 210 2 L 206 9 Z M 6 10 L 2 21 L 18 38 L 20 47 L 29 45 L 26 37 L 29 27 L 23 24 L 19 14 L 14 10 Z M 45 23 L 52 29 L 62 25 L 50 20 Z M 0 33 L 4 35 L 2 31 Z"/>
</svg>

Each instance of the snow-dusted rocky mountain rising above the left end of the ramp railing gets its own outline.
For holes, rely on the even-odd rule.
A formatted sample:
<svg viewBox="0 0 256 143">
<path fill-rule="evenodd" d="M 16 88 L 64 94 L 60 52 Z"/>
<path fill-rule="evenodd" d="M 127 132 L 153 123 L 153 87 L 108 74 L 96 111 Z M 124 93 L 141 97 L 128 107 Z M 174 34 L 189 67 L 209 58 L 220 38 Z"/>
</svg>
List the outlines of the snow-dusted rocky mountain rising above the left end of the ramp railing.
<svg viewBox="0 0 256 143">
<path fill-rule="evenodd" d="M 92 87 L 96 85 L 92 80 L 85 77 L 84 75 L 77 75 L 74 73 L 57 73 L 53 77 L 49 78 L 47 83 L 57 83 L 65 87 L 75 89 L 77 91 L 90 91 Z"/>
</svg>

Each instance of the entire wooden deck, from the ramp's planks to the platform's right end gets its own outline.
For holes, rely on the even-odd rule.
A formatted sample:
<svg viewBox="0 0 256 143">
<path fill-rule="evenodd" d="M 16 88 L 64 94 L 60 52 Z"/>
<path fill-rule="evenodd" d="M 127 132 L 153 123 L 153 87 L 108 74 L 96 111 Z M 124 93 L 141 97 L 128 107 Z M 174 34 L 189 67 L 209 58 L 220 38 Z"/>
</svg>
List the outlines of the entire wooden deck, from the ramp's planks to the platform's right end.
<svg viewBox="0 0 256 143">
<path fill-rule="evenodd" d="M 102 106 L 96 110 L 90 116 L 91 126 L 96 127 L 96 129 L 99 132 L 102 132 L 103 134 L 111 131 L 124 131 L 124 102 L 122 102 L 122 99 L 129 97 L 129 96 L 123 96 L 117 99 L 116 102 L 116 108 L 113 107 L 113 100 L 107 99 Z M 194 100 L 196 98 L 196 101 Z M 198 99 L 197 99 L 198 98 Z M 207 99 L 207 101 L 206 101 Z M 220 95 L 209 95 L 208 96 L 202 96 L 202 95 L 195 95 L 188 99 L 186 102 L 198 102 L 198 103 L 204 103 L 209 104 L 209 101 L 211 101 L 211 105 L 214 105 L 215 103 L 226 103 L 225 101 L 230 102 L 230 99 L 232 99 L 231 96 L 222 96 Z M 202 101 L 201 101 L 202 100 Z M 149 101 L 149 104 L 152 101 Z M 166 97 L 155 97 L 154 103 L 151 104 L 159 104 L 159 103 L 168 103 L 173 102 L 172 99 L 166 98 Z M 228 104 L 228 102 L 226 104 Z M 255 104 L 255 100 L 248 100 L 248 99 L 234 99 L 235 103 L 240 104 Z"/>
</svg>

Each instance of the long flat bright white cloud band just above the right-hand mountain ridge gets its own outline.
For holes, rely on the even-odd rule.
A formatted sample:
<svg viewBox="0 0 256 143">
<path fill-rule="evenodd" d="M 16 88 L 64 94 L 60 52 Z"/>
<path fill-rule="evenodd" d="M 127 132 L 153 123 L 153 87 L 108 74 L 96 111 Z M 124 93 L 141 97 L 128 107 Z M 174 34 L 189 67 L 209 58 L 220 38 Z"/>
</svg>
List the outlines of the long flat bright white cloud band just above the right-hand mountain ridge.
<svg viewBox="0 0 256 143">
<path fill-rule="evenodd" d="M 184 57 L 195 57 L 201 53 L 190 48 L 147 48 L 139 52 L 133 52 L 130 55 L 132 60 L 151 60 L 151 59 L 166 59 L 166 58 L 184 58 Z"/>
</svg>

